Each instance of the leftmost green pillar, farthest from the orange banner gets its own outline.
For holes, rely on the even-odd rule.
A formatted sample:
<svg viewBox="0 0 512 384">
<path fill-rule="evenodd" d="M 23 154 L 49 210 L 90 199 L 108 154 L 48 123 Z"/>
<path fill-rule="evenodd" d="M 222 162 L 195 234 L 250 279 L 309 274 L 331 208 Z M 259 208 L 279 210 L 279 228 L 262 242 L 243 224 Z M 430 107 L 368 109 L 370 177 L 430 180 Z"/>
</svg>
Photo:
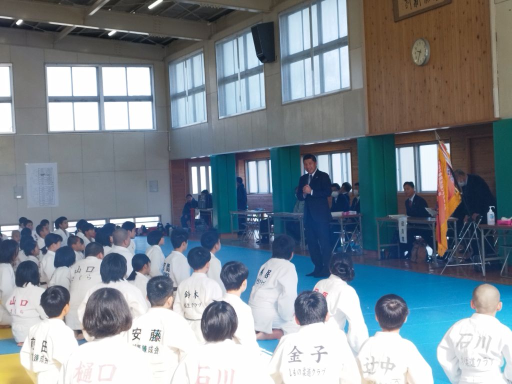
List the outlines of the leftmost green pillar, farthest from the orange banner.
<svg viewBox="0 0 512 384">
<path fill-rule="evenodd" d="M 212 155 L 211 187 L 214 200 L 213 224 L 219 233 L 231 232 L 229 211 L 237 210 L 237 173 L 234 154 Z M 236 219 L 233 220 L 237 225 Z"/>
</svg>

